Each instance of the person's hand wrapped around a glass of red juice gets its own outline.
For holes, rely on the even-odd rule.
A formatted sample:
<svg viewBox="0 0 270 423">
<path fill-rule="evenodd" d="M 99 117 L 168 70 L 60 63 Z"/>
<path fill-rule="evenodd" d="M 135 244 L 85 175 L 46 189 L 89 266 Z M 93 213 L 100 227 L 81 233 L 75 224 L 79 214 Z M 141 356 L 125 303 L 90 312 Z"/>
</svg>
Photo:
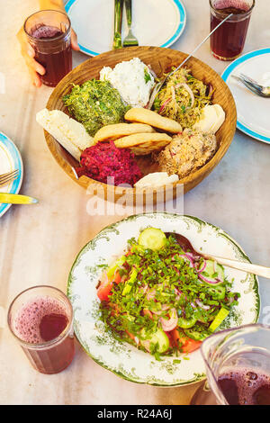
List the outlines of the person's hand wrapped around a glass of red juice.
<svg viewBox="0 0 270 423">
<path fill-rule="evenodd" d="M 26 66 L 28 67 L 31 82 L 35 86 L 41 86 L 41 79 L 40 76 L 46 73 L 45 67 L 40 65 L 40 63 L 35 60 L 35 50 L 31 47 L 31 44 L 27 40 L 27 36 L 21 28 L 21 30 L 17 33 L 17 39 L 21 45 L 21 53 L 23 55 L 24 61 Z M 77 43 L 76 32 L 71 29 L 71 48 L 74 50 L 79 50 L 79 46 Z"/>
</svg>

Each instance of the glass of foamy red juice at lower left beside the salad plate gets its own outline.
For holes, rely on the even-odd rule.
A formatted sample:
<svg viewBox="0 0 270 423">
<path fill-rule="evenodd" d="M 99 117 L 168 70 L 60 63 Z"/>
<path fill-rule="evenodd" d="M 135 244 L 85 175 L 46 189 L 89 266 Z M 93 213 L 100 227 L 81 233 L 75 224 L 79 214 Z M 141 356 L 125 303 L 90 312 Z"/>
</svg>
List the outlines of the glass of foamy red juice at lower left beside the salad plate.
<svg viewBox="0 0 270 423">
<path fill-rule="evenodd" d="M 70 365 L 75 354 L 73 310 L 58 288 L 40 285 L 23 291 L 11 303 L 7 320 L 38 372 L 57 374 Z"/>
</svg>

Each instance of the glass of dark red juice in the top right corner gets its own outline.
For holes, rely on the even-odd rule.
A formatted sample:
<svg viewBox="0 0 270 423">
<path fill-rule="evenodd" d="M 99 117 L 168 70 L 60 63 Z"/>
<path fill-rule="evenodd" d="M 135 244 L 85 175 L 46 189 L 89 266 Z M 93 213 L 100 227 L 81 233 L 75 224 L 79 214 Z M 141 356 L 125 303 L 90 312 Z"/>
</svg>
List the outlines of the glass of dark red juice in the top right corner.
<svg viewBox="0 0 270 423">
<path fill-rule="evenodd" d="M 244 49 L 247 27 L 255 0 L 210 0 L 211 31 L 229 14 L 232 16 L 211 35 L 211 53 L 220 60 L 234 60 Z"/>
</svg>

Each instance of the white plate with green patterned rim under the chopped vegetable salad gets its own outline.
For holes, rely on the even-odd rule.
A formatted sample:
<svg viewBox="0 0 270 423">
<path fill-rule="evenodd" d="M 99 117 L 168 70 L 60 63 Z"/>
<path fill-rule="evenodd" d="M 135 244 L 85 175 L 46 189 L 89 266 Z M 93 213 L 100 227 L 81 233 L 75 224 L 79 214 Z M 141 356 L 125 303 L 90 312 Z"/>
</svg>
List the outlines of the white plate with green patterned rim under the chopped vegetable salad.
<svg viewBox="0 0 270 423">
<path fill-rule="evenodd" d="M 111 268 L 127 252 L 130 238 L 138 239 L 147 228 L 181 234 L 198 252 L 249 262 L 234 239 L 198 218 L 163 212 L 130 216 L 103 229 L 80 251 L 71 268 L 67 295 L 74 309 L 76 338 L 96 363 L 130 382 L 167 387 L 197 383 L 205 378 L 200 349 L 157 357 L 113 337 L 102 320 L 96 287 L 104 267 Z M 240 295 L 218 330 L 257 322 L 260 308 L 257 277 L 229 267 L 224 267 L 224 274 L 231 281 L 231 290 Z"/>
</svg>

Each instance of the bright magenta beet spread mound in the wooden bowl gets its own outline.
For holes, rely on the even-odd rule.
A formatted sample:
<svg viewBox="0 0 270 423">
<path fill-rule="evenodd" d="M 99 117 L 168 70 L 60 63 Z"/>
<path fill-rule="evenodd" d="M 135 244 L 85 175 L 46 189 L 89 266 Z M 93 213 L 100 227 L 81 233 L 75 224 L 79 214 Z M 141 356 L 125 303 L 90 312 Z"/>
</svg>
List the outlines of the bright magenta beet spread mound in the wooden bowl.
<svg viewBox="0 0 270 423">
<path fill-rule="evenodd" d="M 78 176 L 86 175 L 103 184 L 130 184 L 133 186 L 142 177 L 142 173 L 129 148 L 117 148 L 113 141 L 97 142 L 85 148 L 81 155 Z M 114 177 L 114 181 L 108 177 Z"/>
</svg>

